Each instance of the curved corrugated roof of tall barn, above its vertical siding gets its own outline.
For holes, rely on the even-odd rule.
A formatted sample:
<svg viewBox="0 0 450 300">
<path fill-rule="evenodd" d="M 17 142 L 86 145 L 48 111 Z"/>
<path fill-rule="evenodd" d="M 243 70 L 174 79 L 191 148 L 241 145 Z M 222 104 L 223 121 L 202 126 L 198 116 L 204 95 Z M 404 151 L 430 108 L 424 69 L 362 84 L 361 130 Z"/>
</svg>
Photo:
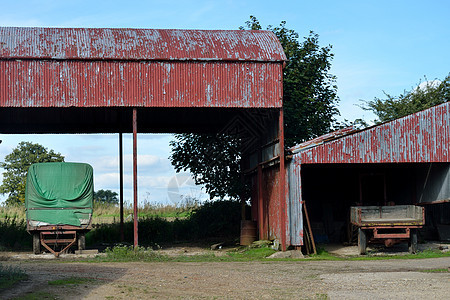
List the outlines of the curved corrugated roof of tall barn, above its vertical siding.
<svg viewBox="0 0 450 300">
<path fill-rule="evenodd" d="M 270 31 L 0 27 L 0 58 L 285 61 Z"/>
</svg>

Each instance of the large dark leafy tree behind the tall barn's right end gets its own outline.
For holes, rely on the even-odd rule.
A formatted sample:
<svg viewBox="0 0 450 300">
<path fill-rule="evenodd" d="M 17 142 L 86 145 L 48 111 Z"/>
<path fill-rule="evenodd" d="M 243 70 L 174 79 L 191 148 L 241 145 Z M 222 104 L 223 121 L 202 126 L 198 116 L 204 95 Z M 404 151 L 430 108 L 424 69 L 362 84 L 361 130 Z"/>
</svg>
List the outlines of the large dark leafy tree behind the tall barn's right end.
<svg viewBox="0 0 450 300">
<path fill-rule="evenodd" d="M 246 28 L 262 29 L 253 16 Z M 335 77 L 329 74 L 331 46 L 321 48 L 314 32 L 300 42 L 298 33 L 287 29 L 284 21 L 268 30 L 278 37 L 288 58 L 283 79 L 286 146 L 329 132 L 339 113 Z M 238 138 L 225 134 L 177 134 L 170 145 L 169 158 L 175 170 L 189 170 L 196 184 L 205 184 L 211 198 L 248 197 L 249 187 L 242 182 Z"/>
</svg>

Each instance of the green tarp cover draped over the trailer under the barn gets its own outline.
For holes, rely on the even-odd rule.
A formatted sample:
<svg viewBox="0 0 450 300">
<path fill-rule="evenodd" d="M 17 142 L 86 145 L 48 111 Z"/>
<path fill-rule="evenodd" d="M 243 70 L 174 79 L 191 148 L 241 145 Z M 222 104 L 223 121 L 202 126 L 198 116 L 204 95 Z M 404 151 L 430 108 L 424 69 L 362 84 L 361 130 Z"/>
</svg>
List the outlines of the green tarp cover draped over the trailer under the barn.
<svg viewBox="0 0 450 300">
<path fill-rule="evenodd" d="M 39 163 L 28 169 L 25 192 L 27 220 L 80 226 L 90 219 L 93 170 L 84 163 Z"/>
</svg>

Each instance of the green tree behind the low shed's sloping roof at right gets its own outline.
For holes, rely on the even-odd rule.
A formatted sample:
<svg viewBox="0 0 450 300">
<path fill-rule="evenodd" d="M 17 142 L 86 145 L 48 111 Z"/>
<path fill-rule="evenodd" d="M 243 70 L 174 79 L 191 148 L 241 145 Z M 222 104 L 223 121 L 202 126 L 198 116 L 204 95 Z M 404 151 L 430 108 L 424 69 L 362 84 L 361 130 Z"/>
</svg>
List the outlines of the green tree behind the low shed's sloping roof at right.
<svg viewBox="0 0 450 300">
<path fill-rule="evenodd" d="M 394 97 L 385 93 L 386 99 L 366 101 L 365 110 L 372 111 L 383 123 L 450 101 L 450 74 L 443 81 L 434 80 L 419 84 L 411 91 Z"/>
</svg>

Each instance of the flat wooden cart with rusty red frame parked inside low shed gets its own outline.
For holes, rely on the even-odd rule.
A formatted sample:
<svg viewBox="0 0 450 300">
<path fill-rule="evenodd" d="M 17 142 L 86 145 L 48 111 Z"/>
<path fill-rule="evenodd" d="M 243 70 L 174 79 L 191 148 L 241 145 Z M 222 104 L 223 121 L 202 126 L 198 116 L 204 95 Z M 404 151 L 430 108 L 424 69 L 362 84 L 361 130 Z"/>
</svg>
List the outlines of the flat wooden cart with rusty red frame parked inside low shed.
<svg viewBox="0 0 450 300">
<path fill-rule="evenodd" d="M 368 243 L 387 247 L 408 242 L 409 252 L 417 252 L 417 229 L 425 225 L 425 210 L 415 205 L 354 206 L 351 223 L 358 229 L 358 251 L 366 254 Z"/>
</svg>

